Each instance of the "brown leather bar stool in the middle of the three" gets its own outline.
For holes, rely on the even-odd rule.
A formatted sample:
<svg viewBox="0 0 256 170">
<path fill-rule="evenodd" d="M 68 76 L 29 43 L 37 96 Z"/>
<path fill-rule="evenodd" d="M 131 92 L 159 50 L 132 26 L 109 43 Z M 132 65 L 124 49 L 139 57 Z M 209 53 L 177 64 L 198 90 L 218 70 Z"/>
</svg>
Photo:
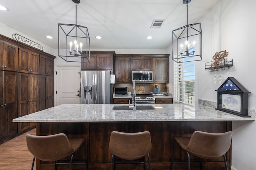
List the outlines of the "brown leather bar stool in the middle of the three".
<svg viewBox="0 0 256 170">
<path fill-rule="evenodd" d="M 122 163 L 144 163 L 144 170 L 146 169 L 145 157 L 148 156 L 148 169 L 150 170 L 150 157 L 151 151 L 151 137 L 150 132 L 137 132 L 137 133 L 124 133 L 118 131 L 112 131 L 109 141 L 109 151 L 111 154 L 111 170 L 112 164 Z M 119 157 L 124 160 L 136 160 L 144 158 L 144 162 L 116 162 L 115 157 Z"/>
</svg>

